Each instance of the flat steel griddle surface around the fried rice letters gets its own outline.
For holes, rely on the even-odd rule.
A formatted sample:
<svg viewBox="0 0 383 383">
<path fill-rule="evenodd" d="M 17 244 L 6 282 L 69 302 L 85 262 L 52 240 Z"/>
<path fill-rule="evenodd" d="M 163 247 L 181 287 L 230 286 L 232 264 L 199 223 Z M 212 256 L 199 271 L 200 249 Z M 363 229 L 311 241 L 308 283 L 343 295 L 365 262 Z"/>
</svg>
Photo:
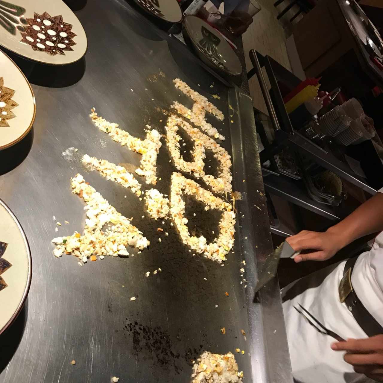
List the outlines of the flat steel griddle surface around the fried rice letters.
<svg viewBox="0 0 383 383">
<path fill-rule="evenodd" d="M 179 77 L 223 111 L 223 123 L 213 117 L 208 121 L 222 129 L 227 137 L 222 145 L 229 153 L 233 154 L 233 148 L 236 151 L 233 189 L 244 191 L 243 152 L 238 146 L 239 98 L 246 102 L 250 99 L 239 97 L 233 89 L 229 91 L 187 57 L 181 57 L 177 49 L 142 24 L 122 2 L 88 2 L 77 16 L 88 36 L 85 59 L 59 68 L 18 61 L 33 83 L 37 114 L 29 136 L 7 152 L 8 159 L 23 157 L 31 144 L 25 160 L 0 176 L 0 198 L 25 229 L 33 258 L 33 277 L 25 308 L 1 340 L 0 381 L 108 382 L 115 375 L 120 382 L 186 383 L 191 360 L 204 350 L 220 354 L 232 351 L 246 381 L 252 381 L 256 374 L 250 352 L 253 366 L 254 358 L 259 359 L 255 364 L 263 363 L 262 352 L 257 357 L 255 351 L 262 349 L 264 335 L 254 339 L 254 329 L 249 332 L 248 326 L 250 286 L 254 285 L 256 269 L 246 201 L 238 205 L 241 213 L 236 224 L 235 253 L 229 253 L 221 267 L 199 255 L 193 256 L 170 226 L 170 220 L 162 224 L 161 220 L 149 218 L 144 201 L 139 201 L 130 190 L 98 172 L 88 172 L 80 163 L 80 157 L 89 154 L 131 169 L 138 167 L 141 156 L 101 132 L 88 117 L 90 108 L 94 106 L 101 116 L 119 123 L 120 128 L 136 137 L 145 137 L 146 124 L 165 134 L 164 110 L 170 110 L 173 100 L 191 106 L 191 101 L 173 86 L 172 80 Z M 214 99 L 213 94 L 221 99 Z M 229 103 L 235 110 L 232 117 Z M 237 146 L 231 137 L 236 137 Z M 78 152 L 63 157 L 61 153 L 69 147 L 78 148 Z M 5 158 L 4 153 L 2 156 Z M 162 139 L 156 188 L 168 195 L 170 175 L 176 170 L 169 159 Z M 216 174 L 214 164 L 213 160 L 207 162 L 206 171 Z M 141 254 L 137 254 L 138 249 L 130 249 L 128 258 L 106 257 L 82 267 L 71 255 L 64 254 L 61 259 L 52 255 L 52 238 L 83 231 L 85 203 L 70 190 L 70 178 L 77 172 L 119 212 L 128 218 L 133 216 L 133 224 L 151 241 L 149 249 Z M 142 177 L 136 178 L 143 189 L 151 188 Z M 263 191 L 261 178 L 252 188 Z M 261 206 L 262 197 L 259 198 Z M 188 201 L 190 231 L 204 234 L 208 241 L 213 239 L 212 231 L 218 233 L 219 216 L 205 212 L 190 198 Z M 262 216 L 260 222 L 267 221 L 264 206 L 257 214 Z M 62 223 L 58 233 L 54 231 L 52 216 Z M 64 220 L 70 224 L 64 224 Z M 169 232 L 169 237 L 160 235 L 161 243 L 158 227 Z M 244 290 L 246 282 L 240 284 L 243 259 L 247 262 L 244 278 L 250 281 L 249 292 Z M 162 272 L 153 275 L 159 267 Z M 149 278 L 145 276 L 147 271 L 151 272 Z M 137 300 L 130 301 L 131 296 Z M 279 299 L 278 291 L 276 296 Z M 280 310 L 278 301 L 276 307 Z M 259 310 L 255 309 L 255 316 L 252 314 L 252 327 L 258 326 L 263 334 Z M 280 321 L 280 311 L 277 315 Z M 226 335 L 221 334 L 221 327 L 226 327 Z M 248 333 L 247 341 L 241 329 Z M 283 327 L 281 331 L 280 348 L 284 349 Z M 245 350 L 245 355 L 237 354 L 237 347 Z M 72 359 L 76 361 L 74 366 L 70 365 Z"/>
</svg>

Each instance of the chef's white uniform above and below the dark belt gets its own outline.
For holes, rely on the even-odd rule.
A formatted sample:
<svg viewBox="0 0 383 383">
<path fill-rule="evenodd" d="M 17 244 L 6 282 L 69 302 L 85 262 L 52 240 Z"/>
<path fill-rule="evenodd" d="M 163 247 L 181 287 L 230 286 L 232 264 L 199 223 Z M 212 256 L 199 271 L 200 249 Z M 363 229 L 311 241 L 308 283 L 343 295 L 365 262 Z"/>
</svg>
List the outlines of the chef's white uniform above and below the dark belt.
<svg viewBox="0 0 383 383">
<path fill-rule="evenodd" d="M 383 189 L 379 190 L 383 192 Z M 338 286 L 346 261 L 332 265 L 291 283 L 282 290 L 288 345 L 293 376 L 302 383 L 370 383 L 343 360 L 345 352 L 334 351 L 336 342 L 316 331 L 293 306 L 300 303 L 328 329 L 342 338 L 367 338 L 345 303 L 340 303 Z M 383 232 L 369 252 L 359 255 L 351 283 L 360 301 L 383 326 Z"/>
</svg>

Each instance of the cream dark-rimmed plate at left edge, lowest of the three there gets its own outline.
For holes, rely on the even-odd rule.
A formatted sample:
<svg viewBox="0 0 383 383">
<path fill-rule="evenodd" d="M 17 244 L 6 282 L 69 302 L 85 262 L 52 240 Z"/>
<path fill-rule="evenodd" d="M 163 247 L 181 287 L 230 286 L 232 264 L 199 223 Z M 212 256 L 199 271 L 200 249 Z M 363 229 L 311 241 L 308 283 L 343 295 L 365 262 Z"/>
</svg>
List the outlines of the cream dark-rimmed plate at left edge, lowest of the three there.
<svg viewBox="0 0 383 383">
<path fill-rule="evenodd" d="M 31 275 L 31 253 L 24 231 L 0 200 L 0 334 L 20 313 Z"/>
</svg>

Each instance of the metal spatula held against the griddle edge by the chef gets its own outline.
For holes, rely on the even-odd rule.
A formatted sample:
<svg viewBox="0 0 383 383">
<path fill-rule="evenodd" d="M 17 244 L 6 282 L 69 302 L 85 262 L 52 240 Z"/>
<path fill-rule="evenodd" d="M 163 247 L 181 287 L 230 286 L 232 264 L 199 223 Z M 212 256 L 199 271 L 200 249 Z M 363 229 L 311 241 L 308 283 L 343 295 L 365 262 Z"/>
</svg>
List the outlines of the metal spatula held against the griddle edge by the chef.
<svg viewBox="0 0 383 383">
<path fill-rule="evenodd" d="M 286 241 L 282 242 L 271 254 L 267 256 L 264 265 L 258 271 L 255 292 L 259 291 L 266 283 L 277 274 L 278 263 L 281 258 L 294 258 L 300 252 L 295 251 Z"/>
</svg>

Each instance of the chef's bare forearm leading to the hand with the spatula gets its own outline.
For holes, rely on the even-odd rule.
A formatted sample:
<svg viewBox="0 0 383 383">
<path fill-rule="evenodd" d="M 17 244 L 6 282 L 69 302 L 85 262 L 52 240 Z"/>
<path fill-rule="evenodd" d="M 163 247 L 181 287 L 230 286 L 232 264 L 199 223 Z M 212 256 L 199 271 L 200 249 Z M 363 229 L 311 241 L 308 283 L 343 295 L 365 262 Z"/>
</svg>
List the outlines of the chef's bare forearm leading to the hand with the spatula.
<svg viewBox="0 0 383 383">
<path fill-rule="evenodd" d="M 383 231 L 383 193 L 376 193 L 328 231 L 339 236 L 342 247 L 360 237 Z"/>
</svg>

